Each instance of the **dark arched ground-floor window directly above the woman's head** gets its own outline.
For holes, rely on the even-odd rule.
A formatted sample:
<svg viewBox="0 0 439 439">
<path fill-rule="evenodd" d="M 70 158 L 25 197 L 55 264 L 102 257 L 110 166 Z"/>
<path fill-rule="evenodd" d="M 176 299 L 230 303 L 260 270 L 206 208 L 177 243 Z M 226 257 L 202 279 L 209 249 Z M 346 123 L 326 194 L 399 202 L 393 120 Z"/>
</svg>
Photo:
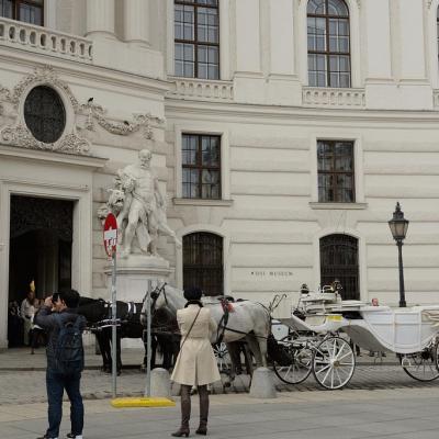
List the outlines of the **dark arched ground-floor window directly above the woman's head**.
<svg viewBox="0 0 439 439">
<path fill-rule="evenodd" d="M 223 238 L 200 232 L 183 237 L 183 288 L 201 288 L 205 295 L 224 294 Z"/>
</svg>

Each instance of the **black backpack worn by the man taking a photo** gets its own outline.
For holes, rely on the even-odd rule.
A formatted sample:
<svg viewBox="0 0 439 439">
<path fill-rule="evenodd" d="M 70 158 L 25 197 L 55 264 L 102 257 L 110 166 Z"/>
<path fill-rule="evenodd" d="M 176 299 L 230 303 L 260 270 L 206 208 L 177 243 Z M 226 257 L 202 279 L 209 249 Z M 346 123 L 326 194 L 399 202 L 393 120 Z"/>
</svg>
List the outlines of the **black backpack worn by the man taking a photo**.
<svg viewBox="0 0 439 439">
<path fill-rule="evenodd" d="M 81 323 L 83 317 L 78 316 L 74 322 L 63 322 L 59 314 L 54 315 L 59 326 L 58 340 L 55 346 L 55 370 L 66 375 L 83 370 L 83 346 Z"/>
</svg>

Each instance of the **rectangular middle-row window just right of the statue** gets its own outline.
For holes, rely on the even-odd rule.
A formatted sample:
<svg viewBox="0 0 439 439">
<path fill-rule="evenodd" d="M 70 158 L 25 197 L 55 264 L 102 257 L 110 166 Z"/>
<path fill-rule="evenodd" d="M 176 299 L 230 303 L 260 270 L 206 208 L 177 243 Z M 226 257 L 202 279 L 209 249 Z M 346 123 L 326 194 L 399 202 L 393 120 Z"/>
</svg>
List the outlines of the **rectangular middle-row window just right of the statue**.
<svg viewBox="0 0 439 439">
<path fill-rule="evenodd" d="M 221 137 L 183 134 L 182 195 L 185 199 L 221 199 Z"/>
</svg>

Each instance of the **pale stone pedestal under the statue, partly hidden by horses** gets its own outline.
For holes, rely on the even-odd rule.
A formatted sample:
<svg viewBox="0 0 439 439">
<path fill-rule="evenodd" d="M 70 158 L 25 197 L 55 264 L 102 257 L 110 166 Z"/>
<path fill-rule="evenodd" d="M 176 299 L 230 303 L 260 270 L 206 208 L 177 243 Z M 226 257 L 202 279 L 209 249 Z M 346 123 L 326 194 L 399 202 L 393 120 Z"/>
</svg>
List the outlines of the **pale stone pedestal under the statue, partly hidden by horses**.
<svg viewBox="0 0 439 439">
<path fill-rule="evenodd" d="M 111 290 L 111 266 L 105 269 L 106 285 Z M 169 262 L 160 257 L 130 255 L 116 260 L 116 294 L 117 301 L 143 302 L 148 290 L 148 281 L 153 289 L 167 282 L 171 269 Z M 111 296 L 109 297 L 111 300 Z M 122 340 L 122 348 L 144 348 L 140 339 Z"/>
</svg>

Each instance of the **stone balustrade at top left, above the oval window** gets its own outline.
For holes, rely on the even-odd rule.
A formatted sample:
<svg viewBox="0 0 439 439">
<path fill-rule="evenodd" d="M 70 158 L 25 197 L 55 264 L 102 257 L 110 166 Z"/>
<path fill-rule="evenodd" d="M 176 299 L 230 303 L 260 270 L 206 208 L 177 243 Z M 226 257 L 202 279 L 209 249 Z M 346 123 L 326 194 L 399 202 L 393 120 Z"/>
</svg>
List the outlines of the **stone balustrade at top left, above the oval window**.
<svg viewBox="0 0 439 439">
<path fill-rule="evenodd" d="M 0 45 L 82 63 L 91 63 L 93 57 L 90 40 L 4 18 L 0 18 Z"/>
</svg>

